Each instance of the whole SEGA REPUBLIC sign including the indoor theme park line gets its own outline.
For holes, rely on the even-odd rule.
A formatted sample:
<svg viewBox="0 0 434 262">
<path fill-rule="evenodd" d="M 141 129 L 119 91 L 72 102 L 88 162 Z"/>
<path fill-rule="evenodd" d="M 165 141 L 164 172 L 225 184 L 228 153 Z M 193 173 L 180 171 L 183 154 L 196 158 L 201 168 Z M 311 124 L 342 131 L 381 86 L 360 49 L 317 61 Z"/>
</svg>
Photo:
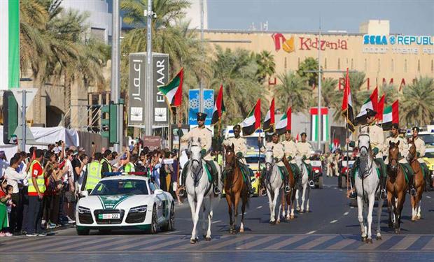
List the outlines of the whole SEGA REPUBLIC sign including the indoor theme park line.
<svg viewBox="0 0 434 262">
<path fill-rule="evenodd" d="M 432 36 L 376 36 L 365 34 L 363 36 L 363 45 L 363 52 L 368 54 L 386 54 L 390 50 L 393 54 L 434 54 Z"/>
</svg>

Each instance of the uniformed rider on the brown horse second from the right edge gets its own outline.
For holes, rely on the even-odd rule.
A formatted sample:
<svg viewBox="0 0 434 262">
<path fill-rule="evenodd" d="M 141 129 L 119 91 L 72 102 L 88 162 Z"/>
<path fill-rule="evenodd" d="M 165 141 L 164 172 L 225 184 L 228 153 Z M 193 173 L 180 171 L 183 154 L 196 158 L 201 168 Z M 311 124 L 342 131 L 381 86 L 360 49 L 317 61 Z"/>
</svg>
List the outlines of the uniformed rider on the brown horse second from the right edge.
<svg viewBox="0 0 434 262">
<path fill-rule="evenodd" d="M 416 196 L 416 189 L 414 189 L 414 172 L 412 167 L 409 165 L 408 161 L 407 161 L 407 156 L 408 156 L 408 144 L 407 144 L 407 140 L 400 138 L 399 136 L 399 127 L 398 124 L 393 123 L 392 124 L 392 130 L 391 130 L 391 136 L 389 136 L 388 138 L 386 138 L 386 146 L 385 146 L 385 150 L 388 149 L 388 145 L 389 143 L 399 143 L 399 160 L 398 162 L 401 164 L 402 168 L 405 170 L 405 173 L 408 174 L 408 184 L 409 184 L 409 193 L 412 196 Z M 388 164 L 388 157 L 386 158 L 386 164 Z"/>
</svg>

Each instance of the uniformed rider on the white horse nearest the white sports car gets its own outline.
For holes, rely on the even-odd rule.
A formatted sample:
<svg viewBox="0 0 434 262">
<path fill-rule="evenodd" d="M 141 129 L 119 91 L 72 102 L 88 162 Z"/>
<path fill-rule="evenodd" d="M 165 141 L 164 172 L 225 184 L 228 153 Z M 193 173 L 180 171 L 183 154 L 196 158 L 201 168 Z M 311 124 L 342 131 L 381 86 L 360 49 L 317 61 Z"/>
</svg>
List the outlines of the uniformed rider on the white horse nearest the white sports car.
<svg viewBox="0 0 434 262">
<path fill-rule="evenodd" d="M 197 114 L 197 127 L 191 129 L 188 133 L 183 135 L 183 131 L 181 126 L 179 126 L 179 136 L 181 136 L 181 142 L 187 142 L 190 138 L 200 138 L 200 146 L 202 147 L 202 159 L 204 159 L 205 163 L 207 163 L 207 168 L 212 177 L 212 182 L 214 185 L 214 194 L 221 194 L 221 190 L 218 187 L 218 171 L 217 167 L 214 165 L 214 161 L 211 157 L 211 143 L 212 143 L 212 132 L 211 130 L 205 127 L 205 119 L 207 114 L 204 112 L 198 112 Z M 181 174 L 181 189 L 179 191 L 180 196 L 184 196 L 186 194 L 186 173 L 188 170 L 188 162 L 186 166 L 182 169 Z"/>
</svg>

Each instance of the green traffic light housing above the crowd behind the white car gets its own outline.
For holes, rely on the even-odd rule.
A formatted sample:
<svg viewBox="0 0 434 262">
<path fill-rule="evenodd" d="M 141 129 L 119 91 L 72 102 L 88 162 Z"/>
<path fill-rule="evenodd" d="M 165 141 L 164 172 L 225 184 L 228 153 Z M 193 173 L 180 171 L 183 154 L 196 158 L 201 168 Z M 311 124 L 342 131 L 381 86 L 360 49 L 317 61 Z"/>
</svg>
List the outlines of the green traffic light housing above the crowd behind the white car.
<svg viewBox="0 0 434 262">
<path fill-rule="evenodd" d="M 101 107 L 101 136 L 109 138 L 109 143 L 118 143 L 118 106 L 110 101 Z"/>
</svg>

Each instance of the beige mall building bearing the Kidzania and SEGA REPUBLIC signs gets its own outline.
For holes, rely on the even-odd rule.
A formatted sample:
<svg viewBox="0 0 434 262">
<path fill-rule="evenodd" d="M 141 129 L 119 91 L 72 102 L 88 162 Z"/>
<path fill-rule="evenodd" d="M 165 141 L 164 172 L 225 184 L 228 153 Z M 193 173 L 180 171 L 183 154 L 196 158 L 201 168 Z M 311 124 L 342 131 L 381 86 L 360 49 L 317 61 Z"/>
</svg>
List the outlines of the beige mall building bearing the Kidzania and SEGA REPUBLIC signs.
<svg viewBox="0 0 434 262">
<path fill-rule="evenodd" d="M 276 75 L 297 70 L 304 59 L 317 59 L 318 53 L 324 71 L 349 68 L 365 72 L 365 89 L 386 82 L 402 90 L 414 78 L 434 75 L 434 37 L 390 34 L 388 20 L 360 24 L 359 33 L 208 29 L 204 37 L 222 48 L 271 52 Z M 276 85 L 276 75 L 268 85 Z M 324 73 L 323 77 L 339 79 L 342 73 Z M 339 87 L 343 88 L 342 81 Z"/>
</svg>

